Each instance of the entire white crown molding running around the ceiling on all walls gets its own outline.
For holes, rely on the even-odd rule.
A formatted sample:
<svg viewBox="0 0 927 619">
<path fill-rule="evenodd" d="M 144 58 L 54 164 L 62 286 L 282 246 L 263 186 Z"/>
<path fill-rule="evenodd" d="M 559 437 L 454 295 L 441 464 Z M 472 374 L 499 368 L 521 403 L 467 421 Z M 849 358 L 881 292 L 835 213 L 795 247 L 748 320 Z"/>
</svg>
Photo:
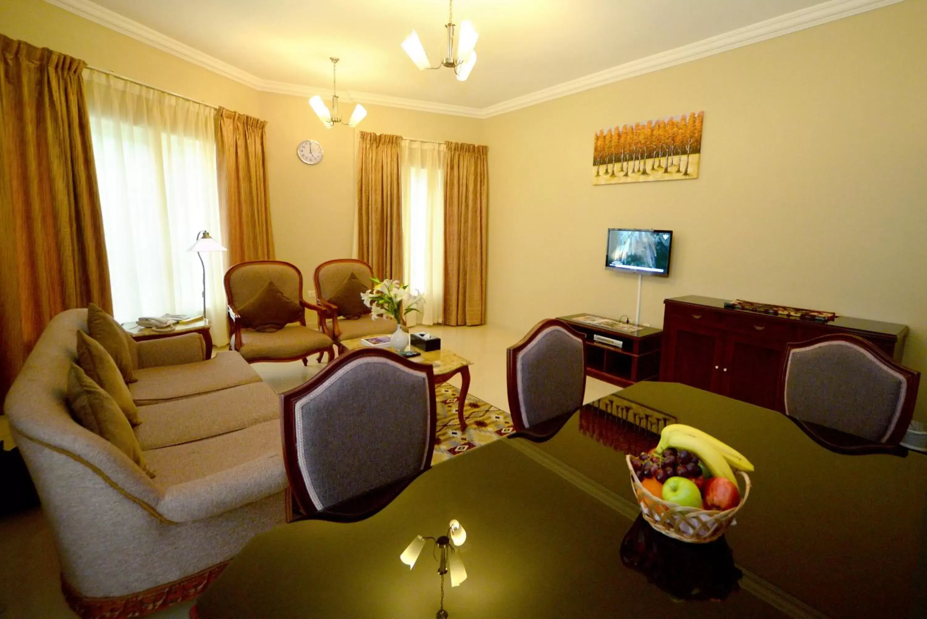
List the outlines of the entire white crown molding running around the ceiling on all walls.
<svg viewBox="0 0 927 619">
<path fill-rule="evenodd" d="M 766 41 L 767 39 L 783 34 L 805 30 L 806 28 L 827 23 L 828 21 L 843 19 L 903 1 L 904 0 L 829 0 L 828 2 L 799 9 L 776 18 L 759 21 L 734 31 L 724 32 L 723 34 L 718 34 L 717 36 L 690 45 L 683 45 L 676 49 L 654 54 L 653 56 L 632 60 L 625 64 L 612 67 L 611 69 L 591 73 L 590 75 L 580 77 L 576 80 L 544 88 L 522 97 L 514 97 L 487 108 L 468 108 L 449 103 L 389 97 L 387 95 L 376 95 L 374 93 L 356 91 L 339 92 L 338 97 L 344 97 L 353 102 L 363 102 L 389 108 L 402 108 L 405 110 L 428 111 L 437 114 L 451 114 L 454 116 L 486 119 L 510 111 L 521 110 L 522 108 L 537 105 L 545 101 L 551 101 L 555 98 L 573 95 L 605 84 L 614 84 L 615 82 L 627 80 L 631 77 L 643 75 L 644 73 L 675 67 L 676 65 L 691 62 L 698 58 L 714 56 L 715 54 L 721 54 L 730 49 L 759 43 L 760 41 Z M 311 97 L 313 95 L 325 96 L 330 92 L 326 88 L 316 86 L 262 80 L 257 75 L 252 75 L 248 73 L 248 71 L 238 69 L 227 62 L 223 62 L 219 58 L 213 58 L 190 45 L 185 45 L 176 39 L 171 39 L 171 37 L 161 32 L 152 30 L 137 21 L 133 21 L 133 19 L 123 17 L 119 13 L 111 11 L 104 6 L 99 6 L 90 0 L 45 0 L 45 2 L 70 11 L 84 19 L 90 19 L 95 23 L 106 26 L 110 30 L 130 36 L 136 41 L 141 41 L 146 45 L 156 47 L 173 56 L 183 58 L 197 66 L 218 73 L 231 80 L 235 80 L 235 82 L 239 84 L 245 84 L 261 92 L 296 97 Z"/>
</svg>

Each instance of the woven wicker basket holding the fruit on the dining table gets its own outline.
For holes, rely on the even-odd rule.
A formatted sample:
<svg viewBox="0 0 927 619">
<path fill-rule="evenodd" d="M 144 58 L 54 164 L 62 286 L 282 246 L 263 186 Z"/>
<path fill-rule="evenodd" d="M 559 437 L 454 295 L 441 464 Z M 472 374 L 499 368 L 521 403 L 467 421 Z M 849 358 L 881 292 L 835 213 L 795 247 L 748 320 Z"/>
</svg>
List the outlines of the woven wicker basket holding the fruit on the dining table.
<svg viewBox="0 0 927 619">
<path fill-rule="evenodd" d="M 734 516 L 743 508 L 750 496 L 750 477 L 743 471 L 736 471 L 743 477 L 743 496 L 740 504 L 733 509 L 718 511 L 717 509 L 690 508 L 678 503 L 670 503 L 660 496 L 650 494 L 642 485 L 641 480 L 634 473 L 631 466 L 631 457 L 628 456 L 628 470 L 631 472 L 631 485 L 634 495 L 637 496 L 638 505 L 641 506 L 643 519 L 655 530 L 663 535 L 679 539 L 692 544 L 707 544 L 715 541 L 737 521 Z"/>
</svg>

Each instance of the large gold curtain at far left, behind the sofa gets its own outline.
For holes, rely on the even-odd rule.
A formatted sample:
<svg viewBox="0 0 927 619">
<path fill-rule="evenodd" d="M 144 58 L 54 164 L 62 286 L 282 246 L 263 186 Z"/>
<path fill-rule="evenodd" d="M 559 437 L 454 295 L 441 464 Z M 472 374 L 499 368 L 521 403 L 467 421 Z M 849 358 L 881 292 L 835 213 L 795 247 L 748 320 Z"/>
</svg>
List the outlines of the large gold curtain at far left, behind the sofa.
<svg viewBox="0 0 927 619">
<path fill-rule="evenodd" d="M 0 34 L 0 397 L 52 316 L 112 312 L 85 65 Z"/>
</svg>

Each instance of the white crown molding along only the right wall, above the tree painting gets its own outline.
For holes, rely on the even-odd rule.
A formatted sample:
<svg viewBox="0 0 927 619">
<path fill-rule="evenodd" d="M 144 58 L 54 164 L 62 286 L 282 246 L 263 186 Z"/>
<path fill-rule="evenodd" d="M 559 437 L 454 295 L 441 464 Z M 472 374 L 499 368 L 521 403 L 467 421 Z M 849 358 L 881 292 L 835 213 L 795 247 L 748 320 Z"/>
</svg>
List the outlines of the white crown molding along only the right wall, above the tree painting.
<svg viewBox="0 0 927 619">
<path fill-rule="evenodd" d="M 676 49 L 670 49 L 666 52 L 660 52 L 653 56 L 631 60 L 625 64 L 591 73 L 585 77 L 576 80 L 557 84 L 550 88 L 544 88 L 523 97 L 514 97 L 502 103 L 491 105 L 483 108 L 483 118 L 498 116 L 509 111 L 521 110 L 532 105 L 550 101 L 555 98 L 566 97 L 590 88 L 596 88 L 605 84 L 613 84 L 621 80 L 627 80 L 631 77 L 661 71 L 669 67 L 691 62 L 698 58 L 714 56 L 722 52 L 752 45 L 760 41 L 766 41 L 783 34 L 797 32 L 811 28 L 828 21 L 843 19 L 858 13 L 881 8 L 882 6 L 894 5 L 903 0 L 830 0 L 820 5 L 808 6 L 792 13 L 786 13 L 776 18 L 759 21 L 750 26 L 744 26 L 737 30 L 724 32 L 702 41 L 697 41 L 690 45 L 683 45 Z"/>
</svg>

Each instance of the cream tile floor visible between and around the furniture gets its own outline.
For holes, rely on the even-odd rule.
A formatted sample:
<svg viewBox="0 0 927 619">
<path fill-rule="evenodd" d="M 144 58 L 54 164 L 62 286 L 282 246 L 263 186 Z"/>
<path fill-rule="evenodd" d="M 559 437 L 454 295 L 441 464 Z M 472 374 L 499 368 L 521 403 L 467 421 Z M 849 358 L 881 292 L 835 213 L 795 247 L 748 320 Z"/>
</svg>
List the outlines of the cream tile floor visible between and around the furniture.
<svg viewBox="0 0 927 619">
<path fill-rule="evenodd" d="M 451 348 L 473 362 L 470 393 L 503 410 L 509 409 L 505 349 L 520 340 L 524 333 L 491 325 L 420 329 L 437 334 L 443 347 Z M 297 361 L 261 363 L 255 364 L 254 368 L 275 390 L 281 392 L 310 379 L 322 366 L 312 359 L 308 367 Z M 455 377 L 451 384 L 460 387 L 460 378 Z M 616 387 L 613 385 L 589 379 L 586 400 L 614 391 Z M 61 596 L 54 542 L 41 509 L 0 520 L 0 561 L 0 619 L 76 616 Z M 153 619 L 184 619 L 191 604 L 179 604 L 149 616 Z"/>
</svg>

